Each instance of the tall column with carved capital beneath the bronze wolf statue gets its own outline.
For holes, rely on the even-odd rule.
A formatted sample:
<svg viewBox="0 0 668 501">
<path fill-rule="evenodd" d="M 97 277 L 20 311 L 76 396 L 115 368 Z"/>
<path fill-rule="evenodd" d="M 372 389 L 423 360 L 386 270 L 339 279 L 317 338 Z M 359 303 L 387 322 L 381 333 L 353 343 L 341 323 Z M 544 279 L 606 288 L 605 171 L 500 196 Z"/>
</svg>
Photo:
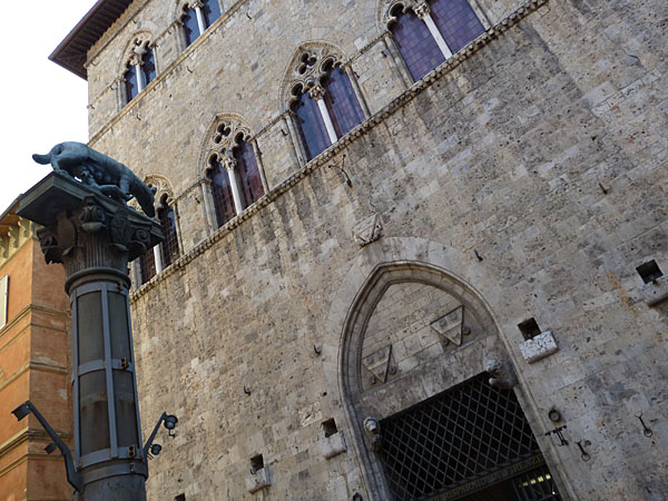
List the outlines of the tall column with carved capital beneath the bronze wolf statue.
<svg viewBox="0 0 668 501">
<path fill-rule="evenodd" d="M 50 174 L 22 196 L 47 263 L 62 263 L 72 308 L 75 466 L 79 501 L 145 501 L 128 261 L 164 238 L 147 216 Z"/>
</svg>

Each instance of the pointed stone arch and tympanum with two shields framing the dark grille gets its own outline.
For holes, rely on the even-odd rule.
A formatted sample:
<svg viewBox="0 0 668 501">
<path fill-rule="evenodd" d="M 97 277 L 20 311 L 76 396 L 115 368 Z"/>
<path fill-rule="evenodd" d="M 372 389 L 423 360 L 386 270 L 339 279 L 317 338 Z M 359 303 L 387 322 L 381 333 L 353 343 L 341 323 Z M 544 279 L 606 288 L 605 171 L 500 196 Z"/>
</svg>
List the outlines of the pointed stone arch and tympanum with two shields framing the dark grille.
<svg viewBox="0 0 668 501">
<path fill-rule="evenodd" d="M 353 442 L 372 499 L 413 499 L 409 495 L 412 491 L 404 492 L 407 497 L 399 495 L 396 482 L 389 482 L 390 462 L 383 456 L 389 444 L 383 445 L 382 423 L 390 424 L 426 401 L 445 399 L 451 389 L 463 387 L 463 383 L 473 382 L 478 384 L 475 391 L 480 393 L 482 387 L 488 392 L 489 376 L 482 373 L 490 360 L 510 363 L 499 328 L 472 287 L 420 262 L 385 263 L 373 269 L 348 310 L 338 372 Z M 504 399 L 503 409 L 512 406 L 511 418 L 519 420 L 518 433 L 527 435 L 517 448 L 518 458 L 512 458 L 513 464 L 524 461 L 514 473 L 534 465 L 548 471 L 513 391 L 500 392 L 492 389 L 488 393 L 493 393 L 492 400 Z M 497 477 L 488 479 L 489 485 L 510 474 L 501 469 L 494 473 Z M 547 475 L 552 485 L 549 471 Z M 442 494 L 443 487 L 434 485 L 433 492 Z M 431 495 L 429 489 L 426 495 Z M 485 489 L 485 484 L 466 487 L 452 499 L 471 489 Z"/>
</svg>

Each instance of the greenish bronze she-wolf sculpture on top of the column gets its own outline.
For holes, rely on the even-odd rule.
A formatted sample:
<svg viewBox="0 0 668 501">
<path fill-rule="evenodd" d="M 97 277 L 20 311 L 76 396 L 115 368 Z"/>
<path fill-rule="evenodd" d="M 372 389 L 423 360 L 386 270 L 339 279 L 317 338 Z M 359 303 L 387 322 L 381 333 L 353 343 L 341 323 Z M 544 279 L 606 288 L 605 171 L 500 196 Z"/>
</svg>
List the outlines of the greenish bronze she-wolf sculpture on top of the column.
<svg viewBox="0 0 668 501">
<path fill-rule="evenodd" d="M 126 203 L 137 198 L 144 213 L 154 217 L 154 194 L 135 173 L 120 161 L 104 155 L 82 143 L 61 143 L 53 146 L 47 155 L 32 155 L 41 165 L 51 164 L 58 174 L 67 174 L 100 193 Z"/>
</svg>

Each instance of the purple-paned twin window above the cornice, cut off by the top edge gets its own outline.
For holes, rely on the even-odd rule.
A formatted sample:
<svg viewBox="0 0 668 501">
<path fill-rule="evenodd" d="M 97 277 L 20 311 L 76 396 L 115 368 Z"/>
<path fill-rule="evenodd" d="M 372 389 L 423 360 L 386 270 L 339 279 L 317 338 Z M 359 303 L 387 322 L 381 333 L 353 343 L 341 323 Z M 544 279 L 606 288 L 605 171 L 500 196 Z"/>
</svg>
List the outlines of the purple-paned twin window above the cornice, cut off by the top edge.
<svg viewBox="0 0 668 501">
<path fill-rule="evenodd" d="M 484 32 L 468 0 L 431 0 L 389 11 L 387 24 L 414 80 Z"/>
</svg>

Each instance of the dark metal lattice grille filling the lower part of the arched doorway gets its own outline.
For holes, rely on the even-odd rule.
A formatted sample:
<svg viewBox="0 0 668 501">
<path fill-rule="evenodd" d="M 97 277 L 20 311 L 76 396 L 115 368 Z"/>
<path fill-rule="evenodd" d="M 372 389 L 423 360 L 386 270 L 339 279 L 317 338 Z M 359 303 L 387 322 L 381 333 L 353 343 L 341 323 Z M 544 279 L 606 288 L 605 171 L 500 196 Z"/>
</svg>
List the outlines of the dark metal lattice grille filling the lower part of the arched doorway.
<svg viewBox="0 0 668 501">
<path fill-rule="evenodd" d="M 396 500 L 462 499 L 500 483 L 512 491 L 518 475 L 544 468 L 514 393 L 490 386 L 488 379 L 480 374 L 381 421 L 381 461 Z M 505 482 L 511 478 L 512 485 Z M 523 482 L 500 499 L 560 499 L 533 495 Z M 469 499 L 485 499 L 480 494 Z"/>
</svg>

